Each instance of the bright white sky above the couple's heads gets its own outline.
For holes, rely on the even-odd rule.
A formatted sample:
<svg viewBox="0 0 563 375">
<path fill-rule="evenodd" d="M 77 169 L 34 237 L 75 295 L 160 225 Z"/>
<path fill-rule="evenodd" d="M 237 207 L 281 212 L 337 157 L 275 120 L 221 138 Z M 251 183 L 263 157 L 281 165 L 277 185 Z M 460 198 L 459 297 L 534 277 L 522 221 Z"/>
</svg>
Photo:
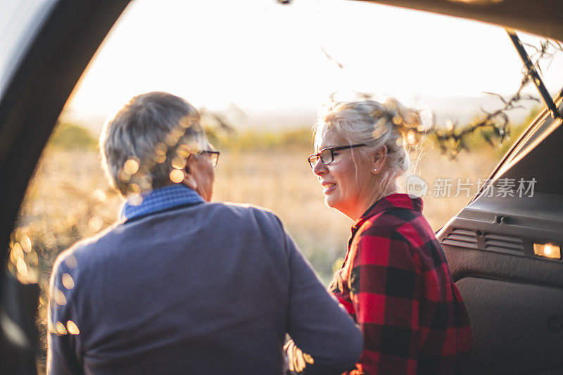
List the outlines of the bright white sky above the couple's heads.
<svg viewBox="0 0 563 375">
<path fill-rule="evenodd" d="M 548 88 L 563 82 L 562 65 L 552 63 Z M 109 115 L 148 91 L 217 110 L 317 107 L 335 91 L 416 101 L 510 94 L 520 80 L 505 30 L 484 23 L 361 1 L 136 0 L 67 109 Z"/>
</svg>

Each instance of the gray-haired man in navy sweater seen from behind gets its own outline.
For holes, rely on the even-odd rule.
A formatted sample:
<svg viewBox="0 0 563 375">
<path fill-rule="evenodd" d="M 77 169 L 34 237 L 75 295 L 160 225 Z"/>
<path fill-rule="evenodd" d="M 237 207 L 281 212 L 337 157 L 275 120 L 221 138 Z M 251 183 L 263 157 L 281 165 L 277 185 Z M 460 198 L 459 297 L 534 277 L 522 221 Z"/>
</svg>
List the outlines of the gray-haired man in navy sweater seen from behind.
<svg viewBox="0 0 563 375">
<path fill-rule="evenodd" d="M 219 153 L 189 103 L 136 96 L 101 151 L 129 199 L 53 267 L 49 374 L 282 374 L 286 333 L 306 373 L 353 367 L 361 333 L 279 219 L 209 203 Z"/>
</svg>

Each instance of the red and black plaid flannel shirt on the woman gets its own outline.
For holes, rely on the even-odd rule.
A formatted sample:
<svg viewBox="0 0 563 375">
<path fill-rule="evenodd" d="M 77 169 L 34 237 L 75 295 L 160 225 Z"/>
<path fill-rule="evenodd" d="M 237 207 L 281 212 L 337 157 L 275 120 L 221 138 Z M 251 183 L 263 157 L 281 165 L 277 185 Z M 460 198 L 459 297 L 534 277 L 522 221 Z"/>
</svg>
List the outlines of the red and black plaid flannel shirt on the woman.
<svg viewBox="0 0 563 375">
<path fill-rule="evenodd" d="M 469 317 L 422 199 L 391 194 L 352 227 L 329 286 L 364 333 L 350 375 L 457 374 L 471 350 Z"/>
</svg>

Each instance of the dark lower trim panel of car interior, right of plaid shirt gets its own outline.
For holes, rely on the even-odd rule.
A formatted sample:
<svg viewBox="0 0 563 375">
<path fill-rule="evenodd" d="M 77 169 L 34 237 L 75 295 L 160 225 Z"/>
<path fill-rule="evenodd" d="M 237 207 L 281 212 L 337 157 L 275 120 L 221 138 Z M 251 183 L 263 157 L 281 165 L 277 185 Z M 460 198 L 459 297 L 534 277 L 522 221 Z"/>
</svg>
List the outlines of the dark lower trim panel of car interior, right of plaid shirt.
<svg viewBox="0 0 563 375">
<path fill-rule="evenodd" d="M 563 374 L 562 289 L 476 277 L 457 286 L 472 322 L 468 374 Z"/>
</svg>

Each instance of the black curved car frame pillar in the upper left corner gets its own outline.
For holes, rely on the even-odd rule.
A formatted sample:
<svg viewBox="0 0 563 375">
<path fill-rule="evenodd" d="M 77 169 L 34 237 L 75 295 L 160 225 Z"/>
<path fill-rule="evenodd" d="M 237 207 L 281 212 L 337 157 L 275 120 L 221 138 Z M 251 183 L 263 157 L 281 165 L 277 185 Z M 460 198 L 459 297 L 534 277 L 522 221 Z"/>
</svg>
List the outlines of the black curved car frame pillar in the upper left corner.
<svg viewBox="0 0 563 375">
<path fill-rule="evenodd" d="M 0 255 L 27 183 L 72 89 L 128 0 L 61 0 L 0 98 Z"/>
</svg>

